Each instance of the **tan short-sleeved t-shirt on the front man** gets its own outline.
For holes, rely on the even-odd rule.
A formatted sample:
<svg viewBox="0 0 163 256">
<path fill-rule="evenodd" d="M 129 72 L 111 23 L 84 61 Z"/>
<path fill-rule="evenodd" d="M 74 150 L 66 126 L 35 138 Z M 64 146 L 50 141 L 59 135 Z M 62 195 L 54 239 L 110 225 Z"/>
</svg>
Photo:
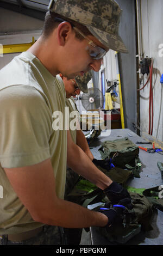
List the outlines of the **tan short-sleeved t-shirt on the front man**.
<svg viewBox="0 0 163 256">
<path fill-rule="evenodd" d="M 30 166 L 51 158 L 56 193 L 64 198 L 67 133 L 53 129 L 53 112 L 65 111 L 65 87 L 30 52 L 0 70 L 0 234 L 40 227 L 24 207 L 4 167 Z M 45 189 L 45 188 L 42 188 Z"/>
</svg>

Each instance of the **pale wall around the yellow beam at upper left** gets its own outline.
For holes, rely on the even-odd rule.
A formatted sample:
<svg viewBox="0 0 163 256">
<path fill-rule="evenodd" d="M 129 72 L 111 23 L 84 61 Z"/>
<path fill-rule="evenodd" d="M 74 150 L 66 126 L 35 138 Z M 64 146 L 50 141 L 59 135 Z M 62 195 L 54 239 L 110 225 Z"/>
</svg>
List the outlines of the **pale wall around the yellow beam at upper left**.
<svg viewBox="0 0 163 256">
<path fill-rule="evenodd" d="M 43 21 L 0 8 L 0 44 L 25 44 L 32 42 L 32 37 L 39 38 Z M 4 54 L 0 57 L 0 69 L 18 55 Z"/>
</svg>

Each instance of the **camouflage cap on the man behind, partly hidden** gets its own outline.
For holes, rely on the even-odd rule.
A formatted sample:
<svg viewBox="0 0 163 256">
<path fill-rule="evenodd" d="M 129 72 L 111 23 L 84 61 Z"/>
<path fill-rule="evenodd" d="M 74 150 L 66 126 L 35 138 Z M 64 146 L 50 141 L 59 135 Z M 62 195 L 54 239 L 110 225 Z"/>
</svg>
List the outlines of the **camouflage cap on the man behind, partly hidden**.
<svg viewBox="0 0 163 256">
<path fill-rule="evenodd" d="M 87 93 L 87 83 L 91 80 L 92 78 L 92 71 L 86 72 L 83 76 L 76 76 L 75 80 L 78 84 L 78 87 L 80 90 L 82 90 L 83 93 Z"/>
</svg>

